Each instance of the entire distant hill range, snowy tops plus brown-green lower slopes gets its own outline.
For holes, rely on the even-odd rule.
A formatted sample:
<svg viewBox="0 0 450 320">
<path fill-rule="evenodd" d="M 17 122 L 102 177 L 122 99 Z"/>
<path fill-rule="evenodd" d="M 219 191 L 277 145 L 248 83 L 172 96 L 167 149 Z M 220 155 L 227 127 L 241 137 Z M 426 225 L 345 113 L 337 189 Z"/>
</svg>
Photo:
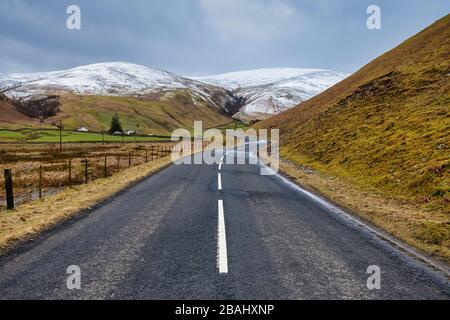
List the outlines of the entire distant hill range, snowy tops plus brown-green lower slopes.
<svg viewBox="0 0 450 320">
<path fill-rule="evenodd" d="M 191 79 L 143 65 L 107 62 L 61 71 L 0 74 L 0 92 L 18 102 L 16 111 L 34 119 L 44 117 L 48 126 L 62 120 L 69 129 L 100 130 L 107 126 L 106 118 L 119 112 L 127 127 L 168 134 L 181 124 L 191 127 L 193 120 L 217 126 L 232 121 L 231 117 L 265 119 L 346 76 L 320 69 L 273 68 Z M 57 97 L 61 98 L 55 101 Z M 46 106 L 47 100 L 51 105 Z M 60 112 L 55 116 L 57 106 Z M 20 128 L 28 122 L 11 114 L 0 120 L 0 127 Z"/>
</svg>

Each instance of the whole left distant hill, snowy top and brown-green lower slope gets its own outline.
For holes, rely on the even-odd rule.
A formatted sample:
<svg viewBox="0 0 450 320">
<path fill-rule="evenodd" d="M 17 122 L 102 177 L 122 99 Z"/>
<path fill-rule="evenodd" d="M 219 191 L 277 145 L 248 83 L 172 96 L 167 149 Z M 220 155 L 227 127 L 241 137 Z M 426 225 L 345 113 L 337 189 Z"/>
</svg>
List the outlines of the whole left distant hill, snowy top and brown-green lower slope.
<svg viewBox="0 0 450 320">
<path fill-rule="evenodd" d="M 46 126 L 62 121 L 67 129 L 101 131 L 118 113 L 124 129 L 169 135 L 176 128 L 191 128 L 194 120 L 209 127 L 232 121 L 226 106 L 234 97 L 226 89 L 130 63 L 0 75 L 0 88 L 16 100 L 16 107 L 3 107 L 2 128 L 38 126 L 44 116 Z M 59 102 L 56 114 L 47 110 L 53 95 Z"/>
</svg>

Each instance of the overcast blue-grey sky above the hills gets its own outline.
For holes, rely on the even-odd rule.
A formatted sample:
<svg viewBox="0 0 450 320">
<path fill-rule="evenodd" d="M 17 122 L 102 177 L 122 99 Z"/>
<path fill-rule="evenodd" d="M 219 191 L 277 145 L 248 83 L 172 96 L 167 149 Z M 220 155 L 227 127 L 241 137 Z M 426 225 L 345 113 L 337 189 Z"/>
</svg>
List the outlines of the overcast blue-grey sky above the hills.
<svg viewBox="0 0 450 320">
<path fill-rule="evenodd" d="M 81 8 L 81 30 L 66 9 Z M 381 7 L 382 30 L 366 27 Z M 450 12 L 448 0 L 1 0 L 0 73 L 127 61 L 184 75 L 353 72 Z"/>
</svg>

